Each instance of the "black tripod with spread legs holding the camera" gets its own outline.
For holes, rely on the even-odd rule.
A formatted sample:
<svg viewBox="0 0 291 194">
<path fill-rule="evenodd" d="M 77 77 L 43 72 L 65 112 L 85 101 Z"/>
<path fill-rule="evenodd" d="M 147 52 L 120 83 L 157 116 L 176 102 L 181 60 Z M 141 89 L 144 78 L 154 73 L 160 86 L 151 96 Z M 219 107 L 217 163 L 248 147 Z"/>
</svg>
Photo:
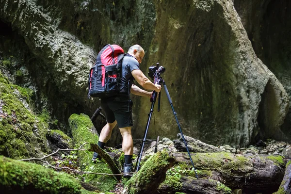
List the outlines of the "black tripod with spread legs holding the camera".
<svg viewBox="0 0 291 194">
<path fill-rule="evenodd" d="M 190 161 L 191 161 L 191 163 L 192 163 L 192 165 L 193 165 L 194 172 L 195 172 L 195 176 L 196 176 L 196 178 L 198 178 L 197 173 L 196 173 L 196 170 L 195 170 L 195 167 L 194 167 L 194 163 L 193 163 L 193 161 L 192 161 L 192 158 L 191 158 L 191 155 L 190 155 L 189 149 L 188 149 L 188 147 L 187 147 L 187 143 L 186 143 L 186 141 L 185 141 L 185 138 L 184 138 L 184 135 L 183 135 L 182 129 L 181 129 L 181 127 L 180 127 L 180 124 L 179 124 L 179 121 L 178 121 L 178 118 L 177 118 L 177 113 L 176 113 L 175 110 L 174 110 L 173 102 L 172 102 L 172 100 L 171 100 L 171 97 L 170 97 L 170 94 L 169 94 L 168 88 L 167 88 L 167 86 L 166 86 L 165 81 L 162 79 L 162 77 L 161 77 L 161 76 L 158 76 L 158 75 L 159 75 L 158 73 L 155 75 L 155 81 L 154 81 L 154 82 L 164 86 L 164 89 L 165 89 L 166 95 L 167 95 L 167 97 L 168 97 L 168 100 L 169 100 L 169 103 L 170 103 L 170 105 L 171 105 L 172 111 L 173 111 L 174 116 L 175 116 L 175 118 L 176 118 L 176 122 L 177 122 L 177 124 L 178 124 L 178 128 L 179 128 L 179 130 L 180 130 L 180 133 L 181 133 L 182 139 L 183 139 L 184 144 L 185 144 L 185 146 L 186 146 L 186 149 L 187 149 L 187 152 L 188 152 L 188 155 L 189 155 Z M 136 166 L 135 166 L 135 171 L 136 171 L 136 172 L 139 170 L 140 162 L 141 162 L 141 160 L 142 160 L 143 150 L 144 150 L 144 146 L 145 146 L 145 143 L 146 143 L 146 135 L 147 135 L 148 128 L 149 128 L 149 124 L 150 124 L 150 120 L 151 120 L 151 117 L 152 117 L 152 114 L 153 114 L 153 111 L 154 111 L 154 106 L 155 106 L 155 102 L 156 102 L 156 99 L 157 99 L 157 94 L 158 94 L 158 93 L 154 91 L 153 94 L 152 94 L 152 97 L 151 97 L 151 102 L 152 102 L 152 104 L 151 104 L 150 112 L 149 112 L 149 114 L 148 114 L 148 119 L 147 119 L 147 123 L 146 123 L 146 130 L 145 130 L 145 134 L 144 134 L 144 137 L 143 137 L 143 143 L 142 143 L 142 145 L 141 145 L 140 152 L 139 152 L 139 154 L 138 154 L 138 158 L 137 158 L 137 164 L 136 164 Z M 161 92 L 160 92 L 160 95 L 159 95 L 159 101 L 158 101 L 158 111 L 160 111 L 160 100 L 161 100 Z M 155 152 L 156 152 L 156 150 L 155 150 Z"/>
</svg>

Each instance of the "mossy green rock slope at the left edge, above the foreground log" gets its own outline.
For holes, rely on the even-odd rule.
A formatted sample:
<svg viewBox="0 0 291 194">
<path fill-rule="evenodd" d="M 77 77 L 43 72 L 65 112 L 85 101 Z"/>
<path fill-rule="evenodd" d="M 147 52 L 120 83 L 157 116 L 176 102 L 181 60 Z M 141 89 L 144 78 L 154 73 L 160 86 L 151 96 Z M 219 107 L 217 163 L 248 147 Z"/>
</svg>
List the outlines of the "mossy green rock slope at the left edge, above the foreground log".
<svg viewBox="0 0 291 194">
<path fill-rule="evenodd" d="M 48 152 L 48 123 L 28 110 L 32 90 L 11 84 L 0 74 L 0 154 L 38 157 Z M 24 100 L 20 100 L 20 98 Z"/>
</svg>

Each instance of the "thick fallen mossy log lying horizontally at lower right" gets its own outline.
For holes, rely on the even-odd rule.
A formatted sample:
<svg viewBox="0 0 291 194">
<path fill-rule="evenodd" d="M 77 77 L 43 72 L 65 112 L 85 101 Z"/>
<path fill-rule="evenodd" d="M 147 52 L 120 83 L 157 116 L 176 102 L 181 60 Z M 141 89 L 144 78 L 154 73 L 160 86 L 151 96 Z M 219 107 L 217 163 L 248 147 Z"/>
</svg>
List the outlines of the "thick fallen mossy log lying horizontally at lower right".
<svg viewBox="0 0 291 194">
<path fill-rule="evenodd" d="M 182 177 L 194 177 L 188 153 L 173 153 L 177 166 L 185 170 Z M 239 155 L 226 152 L 192 153 L 198 177 L 223 182 L 231 189 L 275 192 L 284 176 L 285 163 L 279 155 Z M 194 183 L 196 184 L 196 183 Z M 176 192 L 179 192 L 177 190 Z"/>
</svg>

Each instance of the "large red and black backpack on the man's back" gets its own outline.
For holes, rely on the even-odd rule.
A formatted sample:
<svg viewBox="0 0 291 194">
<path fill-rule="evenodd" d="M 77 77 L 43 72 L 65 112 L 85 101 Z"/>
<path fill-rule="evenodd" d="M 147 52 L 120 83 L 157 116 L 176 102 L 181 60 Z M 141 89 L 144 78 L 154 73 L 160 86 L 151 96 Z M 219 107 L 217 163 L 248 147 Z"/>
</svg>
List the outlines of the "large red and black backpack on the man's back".
<svg viewBox="0 0 291 194">
<path fill-rule="evenodd" d="M 124 50 L 118 45 L 106 44 L 97 55 L 88 79 L 88 98 L 112 97 L 125 86 L 121 84 L 120 73 Z"/>
</svg>

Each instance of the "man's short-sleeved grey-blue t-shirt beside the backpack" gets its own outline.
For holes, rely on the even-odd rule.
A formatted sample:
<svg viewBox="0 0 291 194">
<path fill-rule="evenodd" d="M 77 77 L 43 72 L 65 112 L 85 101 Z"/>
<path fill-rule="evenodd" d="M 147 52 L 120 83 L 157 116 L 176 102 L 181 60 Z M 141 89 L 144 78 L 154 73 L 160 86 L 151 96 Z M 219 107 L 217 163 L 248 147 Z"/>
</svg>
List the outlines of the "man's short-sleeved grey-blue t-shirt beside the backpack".
<svg viewBox="0 0 291 194">
<path fill-rule="evenodd" d="M 120 75 L 120 80 L 122 84 L 125 84 L 124 88 L 120 91 L 121 95 L 129 96 L 130 88 L 134 81 L 131 71 L 134 69 L 140 69 L 138 61 L 126 53 L 122 62 L 122 71 Z"/>
</svg>

